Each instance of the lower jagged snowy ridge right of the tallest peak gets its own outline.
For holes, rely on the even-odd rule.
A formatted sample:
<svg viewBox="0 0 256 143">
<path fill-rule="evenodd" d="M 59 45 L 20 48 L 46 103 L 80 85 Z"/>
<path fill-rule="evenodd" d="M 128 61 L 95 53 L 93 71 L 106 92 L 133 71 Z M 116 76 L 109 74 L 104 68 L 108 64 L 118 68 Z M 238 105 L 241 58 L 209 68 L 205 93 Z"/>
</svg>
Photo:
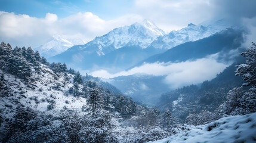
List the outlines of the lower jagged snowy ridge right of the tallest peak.
<svg viewBox="0 0 256 143">
<path fill-rule="evenodd" d="M 159 36 L 150 46 L 153 48 L 170 49 L 174 46 L 180 45 L 181 43 L 198 41 L 199 39 L 206 38 L 214 33 L 220 32 L 220 30 L 226 29 L 227 27 L 230 27 L 230 25 L 226 24 L 224 20 L 216 21 L 208 26 L 196 26 L 195 24 L 190 23 L 187 27 L 184 27 L 181 30 L 171 31 L 164 36 Z"/>
</svg>

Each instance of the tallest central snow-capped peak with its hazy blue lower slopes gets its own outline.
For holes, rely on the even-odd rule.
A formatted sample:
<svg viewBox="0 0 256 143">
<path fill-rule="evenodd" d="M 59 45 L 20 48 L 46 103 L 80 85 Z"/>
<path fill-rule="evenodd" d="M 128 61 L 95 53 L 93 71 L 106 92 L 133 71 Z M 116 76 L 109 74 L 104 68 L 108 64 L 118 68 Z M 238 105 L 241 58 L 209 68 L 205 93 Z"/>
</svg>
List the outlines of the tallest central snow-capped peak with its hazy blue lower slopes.
<svg viewBox="0 0 256 143">
<path fill-rule="evenodd" d="M 144 49 L 164 31 L 148 20 L 113 29 L 106 35 L 96 37 L 85 45 L 76 45 L 49 58 L 61 61 L 73 68 L 121 67 L 121 70 L 155 54 Z M 119 68 L 120 69 L 120 68 Z"/>
</svg>

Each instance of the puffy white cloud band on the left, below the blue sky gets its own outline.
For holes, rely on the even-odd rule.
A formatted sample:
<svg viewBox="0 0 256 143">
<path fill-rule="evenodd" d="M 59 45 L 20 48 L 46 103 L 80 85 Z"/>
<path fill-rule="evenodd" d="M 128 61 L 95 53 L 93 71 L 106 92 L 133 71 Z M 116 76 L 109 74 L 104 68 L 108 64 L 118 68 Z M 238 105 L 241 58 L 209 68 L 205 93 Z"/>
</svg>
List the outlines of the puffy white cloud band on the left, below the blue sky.
<svg viewBox="0 0 256 143">
<path fill-rule="evenodd" d="M 106 34 L 116 27 L 141 21 L 135 14 L 124 15 L 113 20 L 103 20 L 90 12 L 77 13 L 65 18 L 47 13 L 44 18 L 30 17 L 26 14 L 0 12 L 0 40 L 13 46 L 32 46 L 35 48 L 53 39 L 54 35 L 74 41 L 88 42 Z M 79 43 L 77 43 L 79 44 Z"/>
</svg>

